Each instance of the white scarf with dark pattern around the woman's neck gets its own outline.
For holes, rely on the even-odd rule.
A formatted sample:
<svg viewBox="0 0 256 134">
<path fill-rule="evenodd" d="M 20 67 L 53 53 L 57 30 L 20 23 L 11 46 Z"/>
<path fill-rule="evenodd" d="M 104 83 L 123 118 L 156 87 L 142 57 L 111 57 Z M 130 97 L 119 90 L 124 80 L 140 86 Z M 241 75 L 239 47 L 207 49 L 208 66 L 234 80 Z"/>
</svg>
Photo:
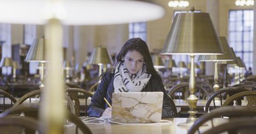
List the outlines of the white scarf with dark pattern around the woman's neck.
<svg viewBox="0 0 256 134">
<path fill-rule="evenodd" d="M 114 76 L 114 92 L 141 92 L 148 84 L 151 74 L 146 73 L 146 66 L 137 74 L 130 74 L 124 63 L 121 62 L 116 66 Z"/>
</svg>

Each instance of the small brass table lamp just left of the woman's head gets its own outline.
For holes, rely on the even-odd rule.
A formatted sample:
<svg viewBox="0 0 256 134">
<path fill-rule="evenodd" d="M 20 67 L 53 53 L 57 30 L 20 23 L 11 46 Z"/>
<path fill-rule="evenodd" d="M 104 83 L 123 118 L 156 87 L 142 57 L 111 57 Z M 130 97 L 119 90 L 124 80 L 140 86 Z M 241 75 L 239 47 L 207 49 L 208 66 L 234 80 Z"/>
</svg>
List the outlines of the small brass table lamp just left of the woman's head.
<svg viewBox="0 0 256 134">
<path fill-rule="evenodd" d="M 107 48 L 102 48 L 102 47 L 94 48 L 88 63 L 99 65 L 99 78 L 100 78 L 102 74 L 102 65 L 112 64 Z"/>
</svg>

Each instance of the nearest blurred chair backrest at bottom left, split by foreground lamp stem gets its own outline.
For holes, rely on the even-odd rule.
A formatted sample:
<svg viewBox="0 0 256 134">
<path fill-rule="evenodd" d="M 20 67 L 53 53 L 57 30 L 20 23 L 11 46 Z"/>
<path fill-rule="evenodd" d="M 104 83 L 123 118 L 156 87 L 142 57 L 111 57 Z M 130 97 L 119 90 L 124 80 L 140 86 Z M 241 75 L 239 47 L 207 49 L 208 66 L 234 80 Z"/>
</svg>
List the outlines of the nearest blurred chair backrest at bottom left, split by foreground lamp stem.
<svg viewBox="0 0 256 134">
<path fill-rule="evenodd" d="M 10 114 L 20 114 L 20 113 L 34 113 L 36 112 L 38 115 L 38 109 L 39 105 L 33 104 L 33 105 L 18 105 L 15 107 L 12 107 L 3 113 L 0 113 L 0 118 L 5 118 L 5 116 L 10 115 Z M 26 115 L 26 114 L 25 114 Z M 34 117 L 35 118 L 35 117 Z M 38 118 L 36 118 L 38 119 Z M 83 133 L 88 133 L 91 134 L 92 132 L 90 129 L 79 119 L 76 117 L 75 114 L 67 111 L 67 119 L 70 120 L 71 122 L 75 123 L 76 127 L 78 127 Z M 76 129 L 77 130 L 77 129 Z M 77 133 L 77 131 L 76 131 Z"/>
</svg>

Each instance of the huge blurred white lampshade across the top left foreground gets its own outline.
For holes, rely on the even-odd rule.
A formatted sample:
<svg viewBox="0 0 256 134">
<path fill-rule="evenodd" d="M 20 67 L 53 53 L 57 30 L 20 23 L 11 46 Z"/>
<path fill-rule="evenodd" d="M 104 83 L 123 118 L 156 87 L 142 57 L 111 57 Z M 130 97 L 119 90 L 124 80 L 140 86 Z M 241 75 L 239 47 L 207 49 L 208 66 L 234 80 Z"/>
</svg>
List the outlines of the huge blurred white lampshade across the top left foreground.
<svg viewBox="0 0 256 134">
<path fill-rule="evenodd" d="M 63 24 L 101 25 L 145 22 L 164 15 L 162 6 L 141 1 L 63 0 L 49 4 L 44 0 L 0 0 L 0 5 L 2 23 L 45 24 L 55 17 Z"/>
</svg>

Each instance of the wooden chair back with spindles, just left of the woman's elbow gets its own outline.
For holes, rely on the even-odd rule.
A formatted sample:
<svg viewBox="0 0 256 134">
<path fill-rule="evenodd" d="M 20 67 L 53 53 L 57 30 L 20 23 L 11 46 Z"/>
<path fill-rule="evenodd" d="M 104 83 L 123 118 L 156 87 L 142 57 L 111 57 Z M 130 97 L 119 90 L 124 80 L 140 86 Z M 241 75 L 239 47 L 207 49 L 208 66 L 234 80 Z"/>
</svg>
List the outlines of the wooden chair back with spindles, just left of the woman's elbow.
<svg viewBox="0 0 256 134">
<path fill-rule="evenodd" d="M 66 89 L 67 95 L 70 97 L 70 99 L 72 101 L 75 101 L 75 113 L 77 116 L 80 115 L 80 113 L 82 113 L 81 110 L 84 110 L 85 116 L 87 116 L 87 99 L 88 97 L 92 97 L 93 94 L 85 91 L 81 88 L 67 88 Z M 83 107 L 81 107 L 81 102 L 79 99 L 82 99 L 82 101 L 84 100 L 84 109 Z"/>
</svg>

